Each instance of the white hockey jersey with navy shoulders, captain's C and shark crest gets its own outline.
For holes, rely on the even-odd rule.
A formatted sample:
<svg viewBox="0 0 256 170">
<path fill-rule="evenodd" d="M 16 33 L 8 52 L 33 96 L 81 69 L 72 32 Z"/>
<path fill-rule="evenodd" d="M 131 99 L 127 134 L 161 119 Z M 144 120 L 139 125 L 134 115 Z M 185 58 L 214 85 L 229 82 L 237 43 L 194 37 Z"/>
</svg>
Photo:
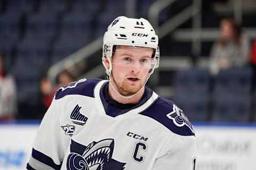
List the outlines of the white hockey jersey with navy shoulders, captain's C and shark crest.
<svg viewBox="0 0 256 170">
<path fill-rule="evenodd" d="M 58 90 L 27 169 L 195 169 L 194 128 L 180 108 L 150 90 L 119 112 L 106 107 L 106 84 L 82 79 Z"/>
</svg>

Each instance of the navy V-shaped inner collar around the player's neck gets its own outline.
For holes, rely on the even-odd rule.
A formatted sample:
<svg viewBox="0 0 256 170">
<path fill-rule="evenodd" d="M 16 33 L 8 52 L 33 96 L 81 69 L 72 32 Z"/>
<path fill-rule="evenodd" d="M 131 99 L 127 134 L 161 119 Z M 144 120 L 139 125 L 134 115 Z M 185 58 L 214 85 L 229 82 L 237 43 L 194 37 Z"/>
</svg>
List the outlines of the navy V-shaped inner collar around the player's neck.
<svg viewBox="0 0 256 170">
<path fill-rule="evenodd" d="M 109 82 L 103 84 L 100 89 L 100 99 L 107 115 L 116 117 L 118 115 L 127 113 L 132 109 L 138 108 L 146 103 L 146 101 L 152 96 L 153 91 L 145 87 L 145 92 L 141 97 L 138 104 L 121 104 L 113 100 L 108 94 Z"/>
</svg>

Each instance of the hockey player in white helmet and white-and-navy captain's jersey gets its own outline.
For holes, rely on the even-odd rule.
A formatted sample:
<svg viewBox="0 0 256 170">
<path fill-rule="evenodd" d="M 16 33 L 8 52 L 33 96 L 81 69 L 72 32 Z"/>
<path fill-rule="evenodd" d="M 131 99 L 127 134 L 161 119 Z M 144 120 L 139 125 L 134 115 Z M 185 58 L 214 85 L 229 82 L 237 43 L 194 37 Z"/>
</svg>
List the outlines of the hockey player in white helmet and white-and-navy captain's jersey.
<svg viewBox="0 0 256 170">
<path fill-rule="evenodd" d="M 58 90 L 39 127 L 27 169 L 195 169 L 195 133 L 182 110 L 145 87 L 159 65 L 145 19 L 119 16 L 103 38 L 109 80 Z"/>
</svg>

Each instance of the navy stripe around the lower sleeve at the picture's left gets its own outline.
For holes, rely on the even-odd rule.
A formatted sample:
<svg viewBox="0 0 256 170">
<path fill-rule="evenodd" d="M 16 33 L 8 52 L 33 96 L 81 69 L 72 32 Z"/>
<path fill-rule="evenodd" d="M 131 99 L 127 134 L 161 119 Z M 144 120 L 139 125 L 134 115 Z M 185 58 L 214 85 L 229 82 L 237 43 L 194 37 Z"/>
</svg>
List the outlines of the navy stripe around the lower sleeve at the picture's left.
<svg viewBox="0 0 256 170">
<path fill-rule="evenodd" d="M 53 162 L 52 158 L 47 155 L 44 155 L 42 152 L 39 152 L 33 148 L 32 157 L 38 160 L 39 162 L 44 163 L 45 165 L 51 166 L 53 169 L 60 169 L 61 164 L 57 165 Z"/>
</svg>

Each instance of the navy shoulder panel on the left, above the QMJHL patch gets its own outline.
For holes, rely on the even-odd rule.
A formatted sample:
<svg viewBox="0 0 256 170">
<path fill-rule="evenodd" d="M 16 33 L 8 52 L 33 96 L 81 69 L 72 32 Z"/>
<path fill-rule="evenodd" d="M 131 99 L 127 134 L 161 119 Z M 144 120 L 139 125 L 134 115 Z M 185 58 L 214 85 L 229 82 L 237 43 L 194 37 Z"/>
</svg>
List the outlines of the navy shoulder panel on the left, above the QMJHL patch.
<svg viewBox="0 0 256 170">
<path fill-rule="evenodd" d="M 94 87 L 100 81 L 101 79 L 81 79 L 75 82 L 71 82 L 66 86 L 61 87 L 57 91 L 55 100 L 58 100 L 67 95 L 83 95 L 94 97 Z"/>
</svg>

